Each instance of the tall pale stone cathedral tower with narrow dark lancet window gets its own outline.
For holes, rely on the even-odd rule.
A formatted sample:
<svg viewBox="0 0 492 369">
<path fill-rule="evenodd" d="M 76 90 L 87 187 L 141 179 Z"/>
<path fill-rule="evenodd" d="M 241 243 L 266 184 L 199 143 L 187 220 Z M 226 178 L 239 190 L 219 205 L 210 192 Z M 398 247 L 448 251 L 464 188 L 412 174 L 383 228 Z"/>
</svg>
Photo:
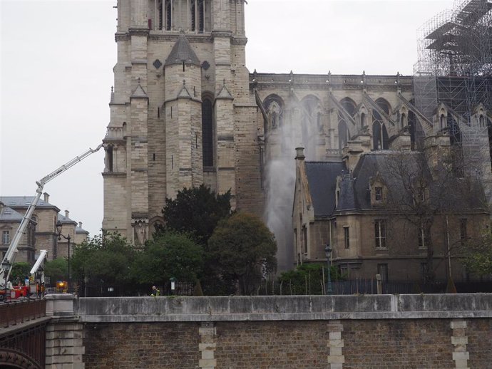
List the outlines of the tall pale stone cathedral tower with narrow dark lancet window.
<svg viewBox="0 0 492 369">
<path fill-rule="evenodd" d="M 118 0 L 104 230 L 142 244 L 165 197 L 201 183 L 231 189 L 233 207 L 261 214 L 244 3 Z"/>
</svg>

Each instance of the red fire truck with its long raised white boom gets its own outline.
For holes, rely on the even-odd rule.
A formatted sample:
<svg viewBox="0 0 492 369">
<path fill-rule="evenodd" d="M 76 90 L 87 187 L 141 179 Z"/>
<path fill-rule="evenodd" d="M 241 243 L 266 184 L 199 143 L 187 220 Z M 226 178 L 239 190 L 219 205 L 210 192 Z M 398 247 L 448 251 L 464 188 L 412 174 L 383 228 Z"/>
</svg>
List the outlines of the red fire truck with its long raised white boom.
<svg viewBox="0 0 492 369">
<path fill-rule="evenodd" d="M 3 299 L 5 301 L 12 298 L 29 297 L 31 296 L 31 294 L 41 293 L 41 289 L 44 284 L 44 272 L 42 266 L 44 260 L 46 259 L 47 251 L 41 250 L 39 257 L 36 260 L 36 263 L 34 264 L 30 272 L 31 276 L 34 277 L 34 280 L 37 283 L 35 283 L 34 286 L 31 286 L 30 282 L 26 283 L 27 286 L 12 286 L 11 281 L 9 281 L 9 276 L 12 271 L 12 266 L 14 265 L 14 261 L 16 259 L 17 247 L 19 246 L 22 235 L 26 231 L 27 225 L 29 224 L 29 222 L 31 222 L 31 217 L 34 213 L 34 209 L 36 209 L 36 205 L 39 202 L 39 198 L 41 197 L 41 194 L 43 192 L 44 185 L 46 185 L 46 183 L 48 183 L 49 181 L 53 180 L 53 178 L 58 177 L 58 175 L 61 175 L 61 173 L 65 172 L 69 168 L 73 167 L 73 165 L 76 165 L 78 162 L 81 162 L 81 160 L 85 159 L 86 157 L 93 154 L 94 152 L 100 150 L 101 147 L 103 147 L 103 144 L 98 145 L 98 147 L 96 147 L 95 149 L 89 148 L 89 150 L 87 150 L 86 152 L 83 152 L 81 155 L 74 157 L 69 162 L 66 162 L 58 169 L 54 170 L 50 174 L 41 178 L 41 180 L 36 181 L 36 185 L 38 186 L 36 189 L 36 196 L 29 204 L 29 207 L 26 210 L 26 214 L 24 214 L 24 217 L 21 220 L 21 224 L 19 224 L 19 228 L 16 230 L 16 233 L 12 238 L 9 249 L 7 249 L 4 259 L 1 261 L 0 300 Z M 41 276 L 39 276 L 39 278 L 36 279 L 36 273 L 38 271 L 41 272 L 40 273 Z"/>
</svg>

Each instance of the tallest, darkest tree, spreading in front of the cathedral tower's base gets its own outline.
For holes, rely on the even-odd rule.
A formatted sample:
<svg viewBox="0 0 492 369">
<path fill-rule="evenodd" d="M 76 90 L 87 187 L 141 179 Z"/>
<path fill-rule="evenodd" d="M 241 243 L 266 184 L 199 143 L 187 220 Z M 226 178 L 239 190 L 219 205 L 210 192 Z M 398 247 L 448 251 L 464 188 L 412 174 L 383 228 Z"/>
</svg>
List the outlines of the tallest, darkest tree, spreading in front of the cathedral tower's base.
<svg viewBox="0 0 492 369">
<path fill-rule="evenodd" d="M 215 194 L 210 187 L 183 188 L 175 199 L 166 198 L 163 209 L 164 226 L 157 226 L 157 234 L 171 230 L 192 234 L 206 246 L 220 219 L 230 214 L 230 190 Z"/>
</svg>

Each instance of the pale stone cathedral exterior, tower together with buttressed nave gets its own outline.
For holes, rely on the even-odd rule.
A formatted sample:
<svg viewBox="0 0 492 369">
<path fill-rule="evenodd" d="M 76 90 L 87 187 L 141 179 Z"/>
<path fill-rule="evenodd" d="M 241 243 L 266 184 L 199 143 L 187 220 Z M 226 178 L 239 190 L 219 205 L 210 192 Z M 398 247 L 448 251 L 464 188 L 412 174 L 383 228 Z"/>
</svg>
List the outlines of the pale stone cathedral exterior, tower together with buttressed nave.
<svg viewBox="0 0 492 369">
<path fill-rule="evenodd" d="M 164 221 L 166 197 L 203 182 L 231 189 L 233 207 L 265 217 L 279 268 L 289 269 L 298 258 L 295 147 L 307 160 L 347 158 L 353 170 L 364 152 L 421 150 L 451 128 L 474 147 L 463 157 L 491 199 L 483 105 L 468 120 L 446 103 L 424 115 L 414 104 L 414 77 L 399 73 L 250 73 L 244 8 L 244 0 L 118 1 L 103 229 L 140 244 Z"/>
</svg>

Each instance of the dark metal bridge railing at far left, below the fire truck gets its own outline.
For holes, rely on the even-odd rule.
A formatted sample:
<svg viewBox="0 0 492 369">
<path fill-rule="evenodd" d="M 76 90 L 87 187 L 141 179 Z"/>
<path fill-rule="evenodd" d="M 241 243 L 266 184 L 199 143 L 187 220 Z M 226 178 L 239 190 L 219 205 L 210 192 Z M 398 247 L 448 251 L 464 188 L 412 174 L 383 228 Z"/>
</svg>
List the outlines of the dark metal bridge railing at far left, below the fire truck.
<svg viewBox="0 0 492 369">
<path fill-rule="evenodd" d="M 0 328 L 14 326 L 46 316 L 46 300 L 15 301 L 0 304 Z"/>
</svg>

